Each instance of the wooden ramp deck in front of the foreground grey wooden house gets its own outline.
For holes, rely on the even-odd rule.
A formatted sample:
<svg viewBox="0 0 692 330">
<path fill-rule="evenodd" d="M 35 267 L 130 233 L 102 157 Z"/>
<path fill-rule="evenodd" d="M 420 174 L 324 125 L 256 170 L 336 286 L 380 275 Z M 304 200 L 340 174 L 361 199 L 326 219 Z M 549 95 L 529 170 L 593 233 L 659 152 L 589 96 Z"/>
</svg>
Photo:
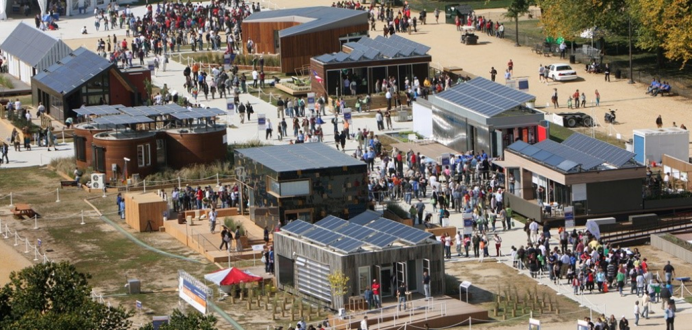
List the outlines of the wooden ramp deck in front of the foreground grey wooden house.
<svg viewBox="0 0 692 330">
<path fill-rule="evenodd" d="M 427 323 L 430 328 L 450 327 L 468 318 L 481 323 L 489 320 L 488 311 L 472 304 L 459 301 L 449 296 L 432 297 L 408 302 L 406 309 L 399 311 L 397 302 L 383 304 L 381 309 L 350 313 L 343 318 L 334 317 L 331 324 L 334 330 L 358 329 L 367 315 L 367 329 L 395 330 L 404 325 L 423 328 Z"/>
</svg>

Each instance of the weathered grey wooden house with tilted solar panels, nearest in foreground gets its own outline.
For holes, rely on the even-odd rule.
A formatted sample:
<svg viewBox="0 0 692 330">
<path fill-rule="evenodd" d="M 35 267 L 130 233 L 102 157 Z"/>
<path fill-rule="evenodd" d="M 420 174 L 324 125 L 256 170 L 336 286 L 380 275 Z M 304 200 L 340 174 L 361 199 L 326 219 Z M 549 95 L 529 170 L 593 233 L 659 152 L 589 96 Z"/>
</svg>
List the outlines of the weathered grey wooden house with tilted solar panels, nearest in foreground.
<svg viewBox="0 0 692 330">
<path fill-rule="evenodd" d="M 349 297 L 363 297 L 375 279 L 383 299 L 396 297 L 402 282 L 412 299 L 424 297 L 423 273 L 431 295 L 444 294 L 444 246 L 430 232 L 385 218 L 350 220 L 328 216 L 316 223 L 295 220 L 274 233 L 278 288 L 338 310 Z M 332 295 L 327 275 L 349 278 L 344 297 Z"/>
</svg>

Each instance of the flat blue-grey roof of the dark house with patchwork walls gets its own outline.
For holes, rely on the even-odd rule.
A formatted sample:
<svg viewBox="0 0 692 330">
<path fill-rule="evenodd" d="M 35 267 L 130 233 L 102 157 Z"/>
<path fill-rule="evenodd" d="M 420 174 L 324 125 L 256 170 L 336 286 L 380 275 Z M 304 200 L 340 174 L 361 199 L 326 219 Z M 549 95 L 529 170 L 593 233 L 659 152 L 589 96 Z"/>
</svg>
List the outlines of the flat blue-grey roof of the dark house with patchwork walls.
<svg viewBox="0 0 692 330">
<path fill-rule="evenodd" d="M 295 172 L 307 169 L 365 166 L 352 156 L 324 143 L 297 143 L 294 145 L 268 145 L 236 149 L 235 152 L 276 172 Z"/>
</svg>

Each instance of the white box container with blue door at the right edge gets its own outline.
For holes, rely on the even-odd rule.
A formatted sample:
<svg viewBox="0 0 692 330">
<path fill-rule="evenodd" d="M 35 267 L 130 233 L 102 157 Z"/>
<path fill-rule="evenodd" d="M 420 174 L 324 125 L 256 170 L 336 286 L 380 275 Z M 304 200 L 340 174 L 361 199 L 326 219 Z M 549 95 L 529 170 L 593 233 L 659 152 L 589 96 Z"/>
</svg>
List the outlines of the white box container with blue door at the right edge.
<svg viewBox="0 0 692 330">
<path fill-rule="evenodd" d="M 637 163 L 661 163 L 664 154 L 682 161 L 689 159 L 690 134 L 686 129 L 679 127 L 635 129 L 632 134 L 634 134 L 632 144 Z"/>
</svg>

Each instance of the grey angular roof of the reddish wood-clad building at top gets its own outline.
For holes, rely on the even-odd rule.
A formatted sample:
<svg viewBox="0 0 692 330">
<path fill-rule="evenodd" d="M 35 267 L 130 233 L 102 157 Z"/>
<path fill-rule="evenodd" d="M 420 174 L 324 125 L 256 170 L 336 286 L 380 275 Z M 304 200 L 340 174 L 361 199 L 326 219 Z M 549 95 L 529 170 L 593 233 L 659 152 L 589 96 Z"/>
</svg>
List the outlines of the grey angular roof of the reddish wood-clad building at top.
<svg viewBox="0 0 692 330">
<path fill-rule="evenodd" d="M 264 10 L 248 16 L 243 22 L 256 23 L 262 21 L 295 21 L 300 24 L 279 31 L 279 37 L 302 35 L 330 28 L 367 24 L 368 13 L 365 10 L 353 10 L 336 7 L 307 7 L 282 10 Z"/>
</svg>

